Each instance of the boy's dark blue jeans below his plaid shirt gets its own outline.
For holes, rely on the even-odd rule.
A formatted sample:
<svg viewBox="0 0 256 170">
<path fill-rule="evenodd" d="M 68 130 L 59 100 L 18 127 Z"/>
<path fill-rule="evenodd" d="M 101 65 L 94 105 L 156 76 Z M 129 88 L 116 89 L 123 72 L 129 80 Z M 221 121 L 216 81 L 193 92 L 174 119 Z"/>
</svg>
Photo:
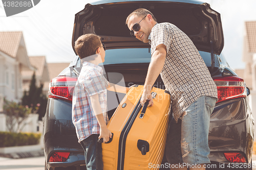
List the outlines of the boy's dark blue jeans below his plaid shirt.
<svg viewBox="0 0 256 170">
<path fill-rule="evenodd" d="M 98 143 L 98 134 L 92 134 L 88 138 L 81 141 L 81 146 L 84 150 L 86 158 L 87 170 L 102 170 L 102 148 L 101 143 Z"/>
</svg>

